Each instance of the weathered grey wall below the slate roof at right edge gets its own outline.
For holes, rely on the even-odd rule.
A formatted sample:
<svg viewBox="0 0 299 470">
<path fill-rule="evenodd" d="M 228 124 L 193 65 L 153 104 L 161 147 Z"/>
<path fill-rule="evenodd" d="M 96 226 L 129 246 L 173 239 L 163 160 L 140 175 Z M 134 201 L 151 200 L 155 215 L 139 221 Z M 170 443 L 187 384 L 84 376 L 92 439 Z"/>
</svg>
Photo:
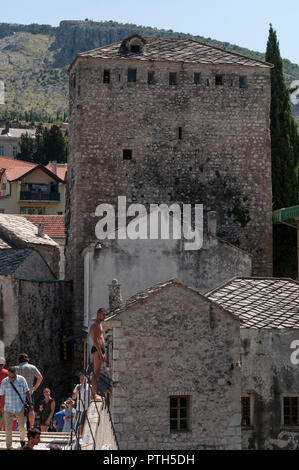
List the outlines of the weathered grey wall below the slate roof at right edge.
<svg viewBox="0 0 299 470">
<path fill-rule="evenodd" d="M 299 329 L 241 329 L 242 393 L 253 405 L 243 449 L 298 450 L 298 426 L 283 422 L 283 396 L 299 396 L 298 345 Z"/>
</svg>

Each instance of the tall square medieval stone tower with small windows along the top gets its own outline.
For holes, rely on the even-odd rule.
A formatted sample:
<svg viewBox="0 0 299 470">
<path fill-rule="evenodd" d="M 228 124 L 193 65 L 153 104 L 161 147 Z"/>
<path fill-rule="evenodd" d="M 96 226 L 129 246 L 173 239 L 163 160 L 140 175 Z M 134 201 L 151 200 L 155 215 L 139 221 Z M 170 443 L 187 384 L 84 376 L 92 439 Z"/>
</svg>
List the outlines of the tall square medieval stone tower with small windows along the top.
<svg viewBox="0 0 299 470">
<path fill-rule="evenodd" d="M 189 39 L 131 36 L 69 68 L 66 275 L 82 325 L 100 203 L 203 203 L 218 235 L 272 275 L 271 64 Z"/>
</svg>

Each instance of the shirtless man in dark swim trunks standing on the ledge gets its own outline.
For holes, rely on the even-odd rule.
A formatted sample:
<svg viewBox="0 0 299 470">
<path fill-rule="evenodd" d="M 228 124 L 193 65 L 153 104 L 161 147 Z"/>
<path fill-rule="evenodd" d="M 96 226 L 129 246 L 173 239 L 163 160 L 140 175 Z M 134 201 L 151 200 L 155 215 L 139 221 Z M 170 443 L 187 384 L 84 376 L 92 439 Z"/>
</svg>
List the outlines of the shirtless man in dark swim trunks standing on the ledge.
<svg viewBox="0 0 299 470">
<path fill-rule="evenodd" d="M 91 396 L 93 400 L 102 400 L 97 393 L 98 380 L 101 373 L 101 367 L 106 359 L 105 339 L 102 322 L 105 320 L 106 310 L 99 308 L 96 321 L 90 327 L 90 336 L 93 342 L 91 354 L 93 357 L 93 376 L 91 381 Z"/>
</svg>

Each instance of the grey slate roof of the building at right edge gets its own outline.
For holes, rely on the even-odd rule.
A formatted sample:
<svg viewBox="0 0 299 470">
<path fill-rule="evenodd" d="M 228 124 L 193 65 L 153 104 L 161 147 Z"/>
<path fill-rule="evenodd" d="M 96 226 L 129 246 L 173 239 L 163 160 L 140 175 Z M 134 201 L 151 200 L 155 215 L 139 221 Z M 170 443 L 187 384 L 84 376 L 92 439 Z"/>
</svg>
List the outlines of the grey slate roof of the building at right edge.
<svg viewBox="0 0 299 470">
<path fill-rule="evenodd" d="M 205 294 L 240 317 L 241 328 L 299 328 L 299 283 L 283 278 L 234 278 Z"/>
</svg>

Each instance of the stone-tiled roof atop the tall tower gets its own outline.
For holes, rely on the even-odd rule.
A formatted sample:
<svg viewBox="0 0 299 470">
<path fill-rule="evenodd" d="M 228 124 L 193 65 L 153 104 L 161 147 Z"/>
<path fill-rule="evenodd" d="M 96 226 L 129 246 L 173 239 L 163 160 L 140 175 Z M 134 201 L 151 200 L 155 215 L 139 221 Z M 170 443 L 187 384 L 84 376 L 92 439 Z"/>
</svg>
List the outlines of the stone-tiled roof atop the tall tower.
<svg viewBox="0 0 299 470">
<path fill-rule="evenodd" d="M 138 35 L 136 35 L 138 36 Z M 127 38 L 129 39 L 129 38 Z M 78 54 L 80 57 L 93 57 L 99 59 L 127 59 L 158 60 L 171 62 L 193 62 L 201 64 L 235 64 L 249 67 L 272 67 L 272 64 L 252 59 L 241 54 L 226 51 L 193 39 L 185 38 L 144 38 L 145 45 L 140 54 L 123 51 L 121 45 L 126 41 L 103 46 L 91 51 Z M 76 59 L 75 59 L 76 60 Z M 74 62 L 73 62 L 74 63 Z M 72 65 L 70 66 L 70 68 Z"/>
</svg>

